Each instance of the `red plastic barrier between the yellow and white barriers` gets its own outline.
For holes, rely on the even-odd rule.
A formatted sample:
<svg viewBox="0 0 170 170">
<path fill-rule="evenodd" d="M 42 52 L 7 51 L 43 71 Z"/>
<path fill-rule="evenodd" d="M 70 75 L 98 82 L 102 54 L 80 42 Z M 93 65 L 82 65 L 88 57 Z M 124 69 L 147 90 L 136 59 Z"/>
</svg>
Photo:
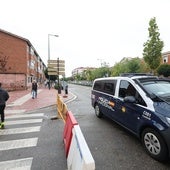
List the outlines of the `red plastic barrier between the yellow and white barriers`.
<svg viewBox="0 0 170 170">
<path fill-rule="evenodd" d="M 70 143 L 72 139 L 72 128 L 74 127 L 74 125 L 77 125 L 77 124 L 78 123 L 76 119 L 74 118 L 73 114 L 70 111 L 68 111 L 65 126 L 64 126 L 64 132 L 63 132 L 63 140 L 64 140 L 64 145 L 65 145 L 66 157 L 68 155 L 68 151 L 69 151 Z"/>
</svg>

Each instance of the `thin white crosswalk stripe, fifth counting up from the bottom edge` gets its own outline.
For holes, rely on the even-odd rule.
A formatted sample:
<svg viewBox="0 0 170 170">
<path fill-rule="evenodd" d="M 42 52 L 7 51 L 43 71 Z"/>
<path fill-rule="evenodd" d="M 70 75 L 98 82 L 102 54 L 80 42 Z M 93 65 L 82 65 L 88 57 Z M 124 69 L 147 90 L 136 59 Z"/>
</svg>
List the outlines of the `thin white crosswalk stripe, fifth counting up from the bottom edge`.
<svg viewBox="0 0 170 170">
<path fill-rule="evenodd" d="M 42 117 L 44 116 L 44 113 L 35 113 L 35 114 L 15 114 L 10 115 L 6 114 L 5 119 L 13 119 L 13 118 L 29 118 L 29 117 Z"/>
</svg>

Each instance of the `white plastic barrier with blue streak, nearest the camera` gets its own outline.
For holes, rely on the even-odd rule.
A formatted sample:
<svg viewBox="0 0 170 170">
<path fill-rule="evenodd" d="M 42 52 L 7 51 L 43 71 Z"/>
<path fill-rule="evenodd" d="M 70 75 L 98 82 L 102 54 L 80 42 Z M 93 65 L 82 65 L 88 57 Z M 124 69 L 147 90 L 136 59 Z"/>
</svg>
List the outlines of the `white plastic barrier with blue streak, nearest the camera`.
<svg viewBox="0 0 170 170">
<path fill-rule="evenodd" d="M 79 125 L 73 128 L 72 141 L 67 157 L 68 170 L 94 170 L 95 162 Z"/>
</svg>

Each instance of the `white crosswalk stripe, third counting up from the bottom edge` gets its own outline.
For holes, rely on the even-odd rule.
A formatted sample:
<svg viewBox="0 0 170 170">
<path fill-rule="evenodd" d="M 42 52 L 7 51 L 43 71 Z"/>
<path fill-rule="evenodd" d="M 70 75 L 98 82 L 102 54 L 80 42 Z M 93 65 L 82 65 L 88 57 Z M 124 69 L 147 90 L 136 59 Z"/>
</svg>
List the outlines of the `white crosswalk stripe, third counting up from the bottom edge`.
<svg viewBox="0 0 170 170">
<path fill-rule="evenodd" d="M 41 128 L 40 126 L 35 126 L 35 127 L 3 129 L 3 130 L 0 130 L 0 135 L 11 135 L 11 134 L 38 132 L 38 131 L 40 131 L 40 128 Z"/>
</svg>

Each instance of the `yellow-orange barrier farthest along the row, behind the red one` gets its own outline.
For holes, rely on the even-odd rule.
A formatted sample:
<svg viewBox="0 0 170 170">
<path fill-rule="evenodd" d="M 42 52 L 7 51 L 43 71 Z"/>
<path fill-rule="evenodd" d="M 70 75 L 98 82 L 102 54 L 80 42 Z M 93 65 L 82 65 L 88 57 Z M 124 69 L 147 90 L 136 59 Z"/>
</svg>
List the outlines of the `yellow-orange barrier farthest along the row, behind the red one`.
<svg viewBox="0 0 170 170">
<path fill-rule="evenodd" d="M 61 97 L 57 95 L 57 112 L 58 112 L 58 118 L 63 119 L 65 122 L 66 117 L 67 117 L 67 106 L 66 104 L 62 101 Z"/>
</svg>

